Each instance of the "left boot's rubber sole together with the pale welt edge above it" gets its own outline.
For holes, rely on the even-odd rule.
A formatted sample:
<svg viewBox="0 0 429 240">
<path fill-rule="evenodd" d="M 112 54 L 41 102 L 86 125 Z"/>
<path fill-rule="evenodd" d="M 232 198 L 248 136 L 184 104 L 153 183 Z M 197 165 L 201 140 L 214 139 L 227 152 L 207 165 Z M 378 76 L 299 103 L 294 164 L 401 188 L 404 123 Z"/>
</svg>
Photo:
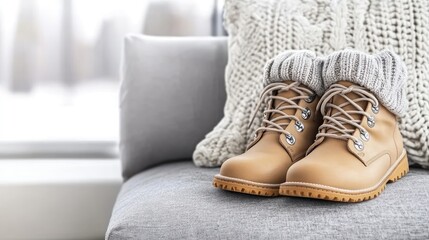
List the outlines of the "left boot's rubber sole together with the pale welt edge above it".
<svg viewBox="0 0 429 240">
<path fill-rule="evenodd" d="M 218 174 L 213 179 L 213 186 L 232 192 L 264 197 L 276 197 L 279 195 L 280 184 L 256 183 L 237 178 L 225 177 Z"/>
</svg>

